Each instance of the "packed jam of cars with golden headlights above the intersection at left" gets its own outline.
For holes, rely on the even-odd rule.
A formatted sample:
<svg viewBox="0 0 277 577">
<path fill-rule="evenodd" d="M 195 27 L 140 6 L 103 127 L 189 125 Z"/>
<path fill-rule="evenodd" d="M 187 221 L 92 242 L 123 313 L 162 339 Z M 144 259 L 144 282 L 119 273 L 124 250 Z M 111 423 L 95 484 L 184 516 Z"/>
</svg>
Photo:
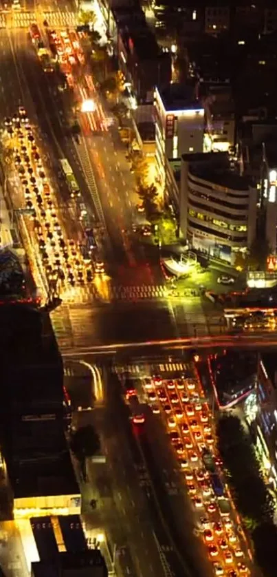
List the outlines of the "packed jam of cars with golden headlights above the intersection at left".
<svg viewBox="0 0 277 577">
<path fill-rule="evenodd" d="M 68 288 L 93 281 L 91 260 L 87 262 L 78 243 L 65 234 L 43 151 L 22 106 L 12 118 L 5 118 L 5 133 L 5 144 L 12 151 L 9 168 L 16 174 L 25 200 L 22 216 L 31 233 L 32 261 L 37 262 L 39 255 L 38 268 L 47 280 L 47 290 L 57 288 L 63 297 Z"/>
</svg>

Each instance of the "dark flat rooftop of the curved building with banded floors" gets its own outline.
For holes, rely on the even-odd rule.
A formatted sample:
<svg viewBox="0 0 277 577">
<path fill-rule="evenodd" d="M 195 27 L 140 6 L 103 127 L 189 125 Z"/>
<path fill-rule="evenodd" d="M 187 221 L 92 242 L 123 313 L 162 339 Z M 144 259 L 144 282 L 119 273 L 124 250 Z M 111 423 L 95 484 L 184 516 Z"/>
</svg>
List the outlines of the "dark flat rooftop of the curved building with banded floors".
<svg viewBox="0 0 277 577">
<path fill-rule="evenodd" d="M 190 163 L 190 173 L 215 185 L 234 191 L 248 191 L 250 178 L 230 170 L 227 152 L 199 152 L 183 154 L 182 160 Z"/>
</svg>

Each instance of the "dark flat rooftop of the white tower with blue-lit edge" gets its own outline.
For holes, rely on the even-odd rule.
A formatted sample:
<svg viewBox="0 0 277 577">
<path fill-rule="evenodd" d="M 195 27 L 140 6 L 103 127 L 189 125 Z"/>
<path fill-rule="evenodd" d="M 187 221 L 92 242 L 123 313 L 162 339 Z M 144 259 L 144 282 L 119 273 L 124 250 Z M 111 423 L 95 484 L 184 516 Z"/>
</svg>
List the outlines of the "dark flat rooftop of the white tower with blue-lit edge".
<svg viewBox="0 0 277 577">
<path fill-rule="evenodd" d="M 195 98 L 195 87 L 193 86 L 172 83 L 163 89 L 157 87 L 157 91 L 166 111 L 203 108 Z"/>
</svg>

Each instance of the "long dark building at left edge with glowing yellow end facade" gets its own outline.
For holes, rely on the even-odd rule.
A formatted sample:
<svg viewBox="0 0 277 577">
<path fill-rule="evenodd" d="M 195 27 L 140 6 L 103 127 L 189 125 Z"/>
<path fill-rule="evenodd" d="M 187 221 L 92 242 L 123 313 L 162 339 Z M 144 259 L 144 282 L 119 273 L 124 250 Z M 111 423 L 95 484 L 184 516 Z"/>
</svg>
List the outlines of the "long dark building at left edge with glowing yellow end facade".
<svg viewBox="0 0 277 577">
<path fill-rule="evenodd" d="M 0 306 L 0 440 L 14 516 L 80 512 L 65 438 L 63 362 L 46 313 Z"/>
</svg>

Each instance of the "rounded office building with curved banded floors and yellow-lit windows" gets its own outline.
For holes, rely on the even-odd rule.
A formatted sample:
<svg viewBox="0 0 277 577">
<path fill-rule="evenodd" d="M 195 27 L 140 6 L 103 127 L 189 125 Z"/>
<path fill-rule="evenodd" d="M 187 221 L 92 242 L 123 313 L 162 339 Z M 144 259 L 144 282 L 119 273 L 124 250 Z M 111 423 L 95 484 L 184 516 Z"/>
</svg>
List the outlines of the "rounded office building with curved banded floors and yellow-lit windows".
<svg viewBox="0 0 277 577">
<path fill-rule="evenodd" d="M 234 263 L 256 236 L 256 189 L 227 153 L 181 157 L 180 233 L 192 249 Z"/>
</svg>

